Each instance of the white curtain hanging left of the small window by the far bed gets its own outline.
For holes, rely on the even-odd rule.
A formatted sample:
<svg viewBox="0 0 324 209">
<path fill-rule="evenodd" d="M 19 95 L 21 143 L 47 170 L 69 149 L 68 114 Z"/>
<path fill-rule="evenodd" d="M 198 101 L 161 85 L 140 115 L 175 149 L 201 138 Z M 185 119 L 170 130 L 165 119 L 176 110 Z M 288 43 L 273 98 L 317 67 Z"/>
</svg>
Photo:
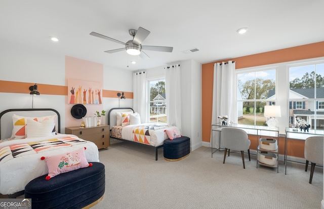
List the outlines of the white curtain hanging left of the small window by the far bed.
<svg viewBox="0 0 324 209">
<path fill-rule="evenodd" d="M 147 110 L 146 110 L 146 73 L 136 72 L 133 75 L 133 109 L 138 112 L 141 117 L 141 122 L 147 122 Z"/>
</svg>

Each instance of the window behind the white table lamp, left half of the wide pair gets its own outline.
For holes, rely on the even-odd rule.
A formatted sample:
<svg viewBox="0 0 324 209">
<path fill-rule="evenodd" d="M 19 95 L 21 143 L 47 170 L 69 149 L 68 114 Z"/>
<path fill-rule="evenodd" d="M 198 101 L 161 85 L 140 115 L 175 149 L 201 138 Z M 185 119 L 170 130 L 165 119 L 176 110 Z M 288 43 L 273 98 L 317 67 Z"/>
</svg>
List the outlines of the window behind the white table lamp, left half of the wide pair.
<svg viewBox="0 0 324 209">
<path fill-rule="evenodd" d="M 275 69 L 237 73 L 237 122 L 265 126 L 264 106 L 275 104 Z"/>
</svg>

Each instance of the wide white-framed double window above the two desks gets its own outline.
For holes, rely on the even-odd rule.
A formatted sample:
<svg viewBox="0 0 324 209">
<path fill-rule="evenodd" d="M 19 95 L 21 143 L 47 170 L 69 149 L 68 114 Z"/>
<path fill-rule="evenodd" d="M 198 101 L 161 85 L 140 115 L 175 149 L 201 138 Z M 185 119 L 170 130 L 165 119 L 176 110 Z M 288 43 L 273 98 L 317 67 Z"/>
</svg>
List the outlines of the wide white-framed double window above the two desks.
<svg viewBox="0 0 324 209">
<path fill-rule="evenodd" d="M 263 67 L 263 66 L 262 66 Z M 265 125 L 265 105 L 280 105 L 279 130 L 303 118 L 324 129 L 324 60 L 276 63 L 237 70 L 237 122 Z"/>
</svg>

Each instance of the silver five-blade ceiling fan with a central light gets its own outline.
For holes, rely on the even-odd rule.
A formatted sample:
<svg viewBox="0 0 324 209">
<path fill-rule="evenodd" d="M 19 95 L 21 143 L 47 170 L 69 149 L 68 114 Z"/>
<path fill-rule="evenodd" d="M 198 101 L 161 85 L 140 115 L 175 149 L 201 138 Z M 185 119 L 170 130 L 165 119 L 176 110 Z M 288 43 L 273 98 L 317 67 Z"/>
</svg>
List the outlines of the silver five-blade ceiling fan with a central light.
<svg viewBox="0 0 324 209">
<path fill-rule="evenodd" d="M 172 52 L 173 50 L 173 47 L 142 46 L 143 40 L 150 34 L 150 31 L 142 27 L 139 27 L 138 30 L 130 29 L 129 33 L 131 36 L 133 36 L 133 39 L 127 41 L 126 43 L 96 32 L 91 32 L 90 35 L 97 36 L 99 38 L 104 38 L 107 40 L 114 41 L 115 43 L 125 45 L 125 48 L 108 50 L 105 51 L 106 53 L 115 53 L 126 49 L 127 53 L 130 55 L 139 55 L 142 59 L 149 59 L 149 56 L 145 54 L 142 50 L 151 50 L 151 51 L 158 51 L 158 52 Z"/>
</svg>

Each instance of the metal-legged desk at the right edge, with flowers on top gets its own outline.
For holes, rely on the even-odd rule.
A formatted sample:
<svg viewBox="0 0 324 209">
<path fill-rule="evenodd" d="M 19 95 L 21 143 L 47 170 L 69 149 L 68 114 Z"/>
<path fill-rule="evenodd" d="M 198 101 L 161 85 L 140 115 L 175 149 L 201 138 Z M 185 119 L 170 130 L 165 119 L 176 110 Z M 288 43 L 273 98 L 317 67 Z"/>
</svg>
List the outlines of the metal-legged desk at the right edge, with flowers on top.
<svg viewBox="0 0 324 209">
<path fill-rule="evenodd" d="M 318 136 L 318 135 L 324 135 L 323 130 L 309 130 L 309 132 L 300 131 L 300 129 L 297 129 L 298 131 L 294 131 L 296 129 L 293 128 L 286 128 L 285 129 L 285 174 L 287 174 L 287 161 L 292 161 L 287 159 L 287 141 L 288 139 L 292 140 L 306 140 L 308 137 L 312 136 Z"/>
</svg>

